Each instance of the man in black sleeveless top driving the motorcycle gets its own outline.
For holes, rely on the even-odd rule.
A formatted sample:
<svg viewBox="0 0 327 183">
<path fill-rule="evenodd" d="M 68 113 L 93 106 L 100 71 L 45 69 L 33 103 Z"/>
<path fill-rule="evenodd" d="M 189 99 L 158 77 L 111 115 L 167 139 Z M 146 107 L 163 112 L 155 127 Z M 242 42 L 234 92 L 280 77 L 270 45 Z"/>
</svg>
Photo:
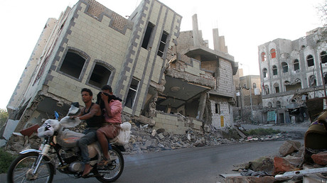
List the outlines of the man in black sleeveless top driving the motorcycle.
<svg viewBox="0 0 327 183">
<path fill-rule="evenodd" d="M 85 131 L 83 132 L 85 135 L 77 142 L 81 151 L 82 161 L 85 163 L 84 172 L 82 174 L 82 177 L 85 177 L 92 170 L 87 145 L 97 140 L 97 129 L 102 126 L 102 112 L 100 106 L 92 102 L 93 94 L 90 89 L 82 89 L 81 94 L 85 107 L 77 116 L 70 116 L 70 118 L 80 118 L 80 120 L 85 120 L 87 123 Z"/>
</svg>

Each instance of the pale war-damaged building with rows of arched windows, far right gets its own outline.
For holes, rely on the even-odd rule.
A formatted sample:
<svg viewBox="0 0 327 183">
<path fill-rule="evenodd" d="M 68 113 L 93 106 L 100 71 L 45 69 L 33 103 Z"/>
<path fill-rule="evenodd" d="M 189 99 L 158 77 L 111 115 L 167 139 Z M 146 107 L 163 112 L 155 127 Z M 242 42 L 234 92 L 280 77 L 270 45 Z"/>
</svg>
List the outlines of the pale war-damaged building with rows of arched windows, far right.
<svg viewBox="0 0 327 183">
<path fill-rule="evenodd" d="M 308 99 L 324 96 L 327 81 L 324 28 L 297 40 L 276 39 L 259 45 L 264 121 L 298 123 L 309 119 Z"/>
</svg>

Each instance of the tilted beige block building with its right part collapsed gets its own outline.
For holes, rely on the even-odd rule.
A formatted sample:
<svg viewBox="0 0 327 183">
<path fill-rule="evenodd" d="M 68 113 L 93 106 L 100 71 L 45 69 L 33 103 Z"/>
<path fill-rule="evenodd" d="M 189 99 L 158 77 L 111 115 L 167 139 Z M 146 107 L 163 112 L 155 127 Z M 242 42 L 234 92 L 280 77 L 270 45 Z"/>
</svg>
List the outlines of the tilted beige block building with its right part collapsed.
<svg viewBox="0 0 327 183">
<path fill-rule="evenodd" d="M 237 70 L 223 36 L 215 49 L 198 30 L 180 32 L 182 17 L 156 0 L 141 1 L 124 18 L 94 0 L 80 0 L 50 18 L 7 106 L 15 131 L 65 115 L 80 91 L 104 84 L 123 100 L 123 112 L 155 122 L 155 128 L 186 133 L 232 126 Z M 153 124 L 152 124 L 153 125 Z"/>
</svg>

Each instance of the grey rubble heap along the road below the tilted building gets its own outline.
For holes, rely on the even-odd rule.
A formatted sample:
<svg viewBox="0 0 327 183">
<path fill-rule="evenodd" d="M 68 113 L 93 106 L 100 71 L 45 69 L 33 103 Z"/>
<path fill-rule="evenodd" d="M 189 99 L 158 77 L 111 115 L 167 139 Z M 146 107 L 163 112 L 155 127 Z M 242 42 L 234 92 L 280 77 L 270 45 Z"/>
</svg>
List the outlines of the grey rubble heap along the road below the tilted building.
<svg viewBox="0 0 327 183">
<path fill-rule="evenodd" d="M 220 131 L 201 133 L 191 129 L 184 135 L 167 133 L 164 128 L 155 130 L 151 126 L 132 123 L 132 134 L 125 149 L 129 154 L 158 152 L 204 145 L 237 143 L 238 140 L 223 138 Z"/>
</svg>

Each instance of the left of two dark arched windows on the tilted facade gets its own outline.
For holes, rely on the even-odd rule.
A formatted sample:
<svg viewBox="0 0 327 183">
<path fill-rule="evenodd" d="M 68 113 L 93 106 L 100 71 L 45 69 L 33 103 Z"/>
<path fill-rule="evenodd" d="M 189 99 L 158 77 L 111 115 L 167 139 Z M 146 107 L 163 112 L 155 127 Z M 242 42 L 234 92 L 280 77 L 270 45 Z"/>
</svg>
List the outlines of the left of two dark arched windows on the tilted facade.
<svg viewBox="0 0 327 183">
<path fill-rule="evenodd" d="M 82 72 L 84 64 L 84 57 L 78 55 L 72 50 L 68 50 L 65 59 L 63 60 L 63 64 L 60 67 L 60 71 L 78 79 L 80 78 L 80 73 Z"/>
</svg>

